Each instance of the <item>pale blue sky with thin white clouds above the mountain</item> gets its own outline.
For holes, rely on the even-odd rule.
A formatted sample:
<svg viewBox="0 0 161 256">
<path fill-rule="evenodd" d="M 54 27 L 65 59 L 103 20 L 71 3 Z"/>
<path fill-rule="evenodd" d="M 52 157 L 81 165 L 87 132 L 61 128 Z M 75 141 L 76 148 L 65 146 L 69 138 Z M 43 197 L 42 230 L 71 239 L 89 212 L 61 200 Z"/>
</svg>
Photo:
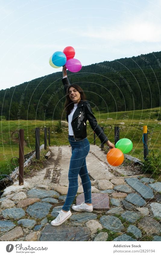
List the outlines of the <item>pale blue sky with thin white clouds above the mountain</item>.
<svg viewBox="0 0 161 256">
<path fill-rule="evenodd" d="M 161 50 L 161 0 L 2 0 L 0 89 L 62 68 L 55 51 L 73 46 L 82 65 Z"/>
</svg>

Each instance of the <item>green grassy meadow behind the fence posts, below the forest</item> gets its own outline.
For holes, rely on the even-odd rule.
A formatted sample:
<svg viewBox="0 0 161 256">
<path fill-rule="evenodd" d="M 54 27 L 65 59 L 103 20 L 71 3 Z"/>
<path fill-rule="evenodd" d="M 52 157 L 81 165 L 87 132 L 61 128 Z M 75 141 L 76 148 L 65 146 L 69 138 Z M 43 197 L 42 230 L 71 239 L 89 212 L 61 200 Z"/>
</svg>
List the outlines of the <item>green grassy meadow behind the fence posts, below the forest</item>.
<svg viewBox="0 0 161 256">
<path fill-rule="evenodd" d="M 145 110 L 135 110 L 127 112 L 111 112 L 103 113 L 93 110 L 93 113 L 100 126 L 104 127 L 104 132 L 109 140 L 114 143 L 114 126 L 119 126 L 120 139 L 128 138 L 133 142 L 133 149 L 129 153 L 131 156 L 144 160 L 143 142 L 141 128 L 143 125 L 148 126 L 148 147 L 154 153 L 159 154 L 161 159 L 161 125 L 158 124 L 161 120 L 159 107 Z M 111 118 L 111 119 L 108 119 Z M 157 121 L 158 120 L 158 121 Z M 122 124 L 119 124 L 122 123 Z M 125 124 L 123 124 L 125 123 Z M 18 157 L 19 143 L 18 139 L 11 137 L 12 132 L 18 131 L 18 128 L 24 129 L 24 154 L 34 150 L 35 133 L 32 131 L 35 127 L 40 127 L 40 145 L 44 144 L 44 126 L 50 127 L 51 146 L 52 145 L 68 145 L 68 127 L 62 127 L 62 131 L 58 132 L 56 125 L 58 121 L 54 120 L 18 120 L 1 121 L 1 137 L 0 142 L 0 174 L 10 174 L 15 166 L 11 164 L 13 156 Z M 91 144 L 93 144 L 93 130 L 87 123 L 87 134 Z M 16 134 L 14 135 L 17 136 Z M 96 139 L 96 144 L 100 145 L 99 138 Z"/>
</svg>

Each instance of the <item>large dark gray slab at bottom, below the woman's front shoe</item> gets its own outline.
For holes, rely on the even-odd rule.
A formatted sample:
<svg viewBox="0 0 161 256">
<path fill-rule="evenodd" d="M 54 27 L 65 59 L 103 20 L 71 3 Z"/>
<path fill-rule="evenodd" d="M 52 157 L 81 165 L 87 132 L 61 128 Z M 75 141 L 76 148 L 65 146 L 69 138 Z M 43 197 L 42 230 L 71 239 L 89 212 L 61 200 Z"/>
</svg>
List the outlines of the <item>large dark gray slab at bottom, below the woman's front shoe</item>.
<svg viewBox="0 0 161 256">
<path fill-rule="evenodd" d="M 65 224 L 54 227 L 46 225 L 42 231 L 40 241 L 88 241 L 90 229 L 87 227 L 71 227 Z"/>
</svg>

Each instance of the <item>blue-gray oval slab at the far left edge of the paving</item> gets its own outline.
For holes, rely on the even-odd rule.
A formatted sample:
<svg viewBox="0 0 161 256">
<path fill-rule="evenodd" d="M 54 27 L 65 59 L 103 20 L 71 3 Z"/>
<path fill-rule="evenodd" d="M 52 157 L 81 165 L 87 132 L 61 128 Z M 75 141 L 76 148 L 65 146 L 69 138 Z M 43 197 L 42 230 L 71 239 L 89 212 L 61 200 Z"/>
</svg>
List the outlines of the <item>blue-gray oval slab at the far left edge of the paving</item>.
<svg viewBox="0 0 161 256">
<path fill-rule="evenodd" d="M 2 211 L 2 215 L 4 218 L 13 218 L 18 220 L 25 216 L 25 211 L 21 208 L 5 209 Z"/>
</svg>

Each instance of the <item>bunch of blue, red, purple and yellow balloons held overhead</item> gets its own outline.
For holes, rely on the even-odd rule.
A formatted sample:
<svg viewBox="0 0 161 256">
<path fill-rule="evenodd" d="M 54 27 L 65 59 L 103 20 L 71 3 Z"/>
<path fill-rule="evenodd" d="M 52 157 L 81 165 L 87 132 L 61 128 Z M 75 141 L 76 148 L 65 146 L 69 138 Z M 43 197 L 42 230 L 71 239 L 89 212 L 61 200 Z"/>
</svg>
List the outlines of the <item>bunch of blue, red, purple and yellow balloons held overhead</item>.
<svg viewBox="0 0 161 256">
<path fill-rule="evenodd" d="M 53 68 L 60 68 L 66 66 L 71 72 L 78 72 L 81 70 L 82 65 L 78 59 L 74 58 L 75 50 L 72 46 L 67 46 L 62 52 L 54 52 L 49 58 L 49 64 Z"/>
</svg>

